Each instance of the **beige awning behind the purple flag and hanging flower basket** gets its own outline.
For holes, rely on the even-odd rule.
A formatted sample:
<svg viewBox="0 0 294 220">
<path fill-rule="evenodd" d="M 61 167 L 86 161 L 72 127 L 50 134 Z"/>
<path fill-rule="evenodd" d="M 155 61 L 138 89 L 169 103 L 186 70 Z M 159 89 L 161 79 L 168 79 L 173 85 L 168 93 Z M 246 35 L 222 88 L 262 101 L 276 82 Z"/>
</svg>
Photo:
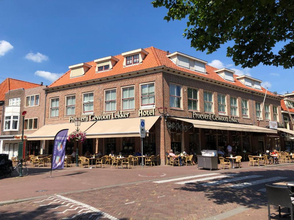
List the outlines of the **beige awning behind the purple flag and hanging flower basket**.
<svg viewBox="0 0 294 220">
<path fill-rule="evenodd" d="M 82 122 L 79 129 L 81 131 L 86 131 L 91 125 L 93 125 L 94 121 Z M 69 129 L 69 134 L 76 130 L 76 126 L 74 123 L 63 123 L 63 124 L 52 124 L 52 125 L 44 125 L 39 130 L 27 136 L 28 141 L 33 140 L 54 140 L 55 135 L 62 129 Z"/>
</svg>

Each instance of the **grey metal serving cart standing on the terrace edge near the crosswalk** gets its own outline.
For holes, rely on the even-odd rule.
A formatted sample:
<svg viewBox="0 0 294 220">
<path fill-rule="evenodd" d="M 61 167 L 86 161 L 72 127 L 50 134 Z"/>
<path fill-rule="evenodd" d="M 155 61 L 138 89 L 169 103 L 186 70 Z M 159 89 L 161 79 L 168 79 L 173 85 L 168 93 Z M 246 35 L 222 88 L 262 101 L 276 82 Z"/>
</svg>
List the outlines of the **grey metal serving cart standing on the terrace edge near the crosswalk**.
<svg viewBox="0 0 294 220">
<path fill-rule="evenodd" d="M 198 167 L 205 169 L 218 169 L 217 150 L 202 150 L 202 155 L 197 155 Z"/>
</svg>

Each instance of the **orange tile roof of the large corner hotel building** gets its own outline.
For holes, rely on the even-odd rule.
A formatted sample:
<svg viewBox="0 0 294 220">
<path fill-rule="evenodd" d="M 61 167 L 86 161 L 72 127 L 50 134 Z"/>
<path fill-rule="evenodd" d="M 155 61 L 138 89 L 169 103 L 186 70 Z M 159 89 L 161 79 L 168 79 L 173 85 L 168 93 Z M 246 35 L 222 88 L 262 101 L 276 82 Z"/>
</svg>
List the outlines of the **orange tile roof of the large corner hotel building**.
<svg viewBox="0 0 294 220">
<path fill-rule="evenodd" d="M 169 68 L 173 68 L 175 70 L 179 70 L 182 72 L 190 73 L 193 75 L 198 75 L 198 76 L 203 76 L 209 79 L 214 79 L 220 82 L 225 82 L 226 84 L 232 84 L 237 87 L 243 87 L 249 90 L 253 90 L 256 92 L 261 92 L 265 93 L 265 89 L 262 88 L 260 89 L 255 89 L 255 88 L 250 88 L 245 86 L 242 82 L 240 82 L 238 79 L 234 78 L 234 82 L 227 81 L 223 79 L 220 75 L 218 75 L 214 70 L 218 70 L 217 68 L 211 67 L 209 65 L 206 65 L 206 73 L 201 73 L 201 72 L 196 72 L 194 70 L 190 70 L 184 67 L 180 67 L 176 65 L 171 59 L 169 59 L 166 54 L 167 52 L 164 50 L 160 50 L 154 47 L 149 47 L 144 49 L 148 52 L 148 55 L 145 57 L 143 62 L 138 65 L 132 65 L 128 67 L 123 67 L 123 60 L 124 57 L 122 55 L 117 55 L 114 56 L 118 59 L 118 62 L 116 65 L 113 66 L 111 70 L 105 71 L 105 72 L 96 72 L 96 63 L 91 61 L 91 62 L 86 62 L 87 64 L 91 65 L 92 67 L 83 75 L 80 77 L 75 77 L 71 78 L 70 77 L 70 70 L 67 71 L 64 75 L 62 75 L 59 79 L 57 79 L 55 82 L 53 82 L 50 87 L 58 87 L 66 84 L 71 84 L 71 83 L 77 83 L 77 82 L 84 82 L 92 79 L 99 79 L 103 77 L 110 77 L 110 76 L 115 76 L 118 74 L 123 74 L 127 72 L 133 72 L 133 71 L 139 71 L 139 70 L 144 70 L 148 68 L 154 68 L 154 67 L 159 67 L 159 66 L 166 66 Z M 234 77 L 237 77 L 238 75 L 234 75 Z M 269 95 L 275 96 L 272 92 L 267 92 Z"/>
</svg>

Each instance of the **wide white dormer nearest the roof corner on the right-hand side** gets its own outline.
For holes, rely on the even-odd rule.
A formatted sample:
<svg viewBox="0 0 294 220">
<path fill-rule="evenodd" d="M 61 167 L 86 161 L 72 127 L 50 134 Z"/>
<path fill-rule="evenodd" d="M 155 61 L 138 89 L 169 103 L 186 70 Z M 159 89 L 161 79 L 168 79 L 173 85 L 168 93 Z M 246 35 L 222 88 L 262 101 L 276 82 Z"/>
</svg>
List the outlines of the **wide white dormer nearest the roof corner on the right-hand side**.
<svg viewBox="0 0 294 220">
<path fill-rule="evenodd" d="M 167 57 L 173 60 L 173 62 L 178 66 L 206 73 L 205 65 L 207 64 L 207 62 L 204 60 L 200 60 L 196 57 L 191 57 L 178 51 L 167 55 Z"/>
</svg>

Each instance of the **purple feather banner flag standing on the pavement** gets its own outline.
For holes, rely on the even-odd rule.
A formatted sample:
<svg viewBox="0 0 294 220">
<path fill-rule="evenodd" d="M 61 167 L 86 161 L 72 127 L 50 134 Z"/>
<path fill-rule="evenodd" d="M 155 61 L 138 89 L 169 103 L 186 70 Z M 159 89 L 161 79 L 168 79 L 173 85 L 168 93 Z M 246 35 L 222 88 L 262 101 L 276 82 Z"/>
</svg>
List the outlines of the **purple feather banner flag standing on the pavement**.
<svg viewBox="0 0 294 220">
<path fill-rule="evenodd" d="M 61 130 L 56 134 L 54 138 L 51 170 L 64 168 L 64 156 L 68 131 L 69 129 Z"/>
</svg>

